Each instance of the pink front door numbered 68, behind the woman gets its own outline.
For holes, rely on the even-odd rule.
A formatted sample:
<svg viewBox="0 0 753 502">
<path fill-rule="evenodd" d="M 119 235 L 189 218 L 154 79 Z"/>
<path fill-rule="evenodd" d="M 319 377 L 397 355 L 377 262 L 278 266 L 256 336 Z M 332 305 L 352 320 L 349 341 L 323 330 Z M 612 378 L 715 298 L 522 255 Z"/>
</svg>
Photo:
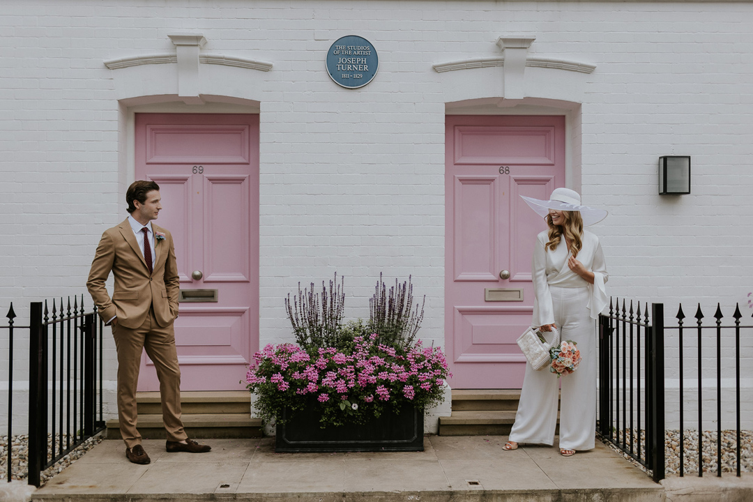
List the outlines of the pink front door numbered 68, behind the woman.
<svg viewBox="0 0 753 502">
<path fill-rule="evenodd" d="M 520 196 L 564 186 L 565 118 L 447 116 L 445 132 L 450 385 L 520 388 L 516 340 L 531 323 L 531 252 L 546 229 Z"/>
</svg>

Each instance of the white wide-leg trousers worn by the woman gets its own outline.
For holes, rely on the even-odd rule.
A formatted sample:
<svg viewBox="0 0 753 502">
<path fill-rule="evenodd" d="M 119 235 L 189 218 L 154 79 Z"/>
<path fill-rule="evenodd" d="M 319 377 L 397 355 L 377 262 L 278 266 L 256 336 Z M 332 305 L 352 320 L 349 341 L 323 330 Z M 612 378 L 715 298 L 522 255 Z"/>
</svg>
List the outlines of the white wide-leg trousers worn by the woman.
<svg viewBox="0 0 753 502">
<path fill-rule="evenodd" d="M 554 443 L 557 398 L 562 382 L 559 410 L 559 448 L 590 450 L 596 431 L 596 322 L 587 308 L 590 288 L 550 286 L 554 322 L 563 340 L 572 340 L 581 351 L 575 373 L 557 379 L 547 368 L 535 371 L 526 364 L 515 424 L 510 440 L 516 443 Z M 547 333 L 547 339 L 553 335 Z"/>
</svg>

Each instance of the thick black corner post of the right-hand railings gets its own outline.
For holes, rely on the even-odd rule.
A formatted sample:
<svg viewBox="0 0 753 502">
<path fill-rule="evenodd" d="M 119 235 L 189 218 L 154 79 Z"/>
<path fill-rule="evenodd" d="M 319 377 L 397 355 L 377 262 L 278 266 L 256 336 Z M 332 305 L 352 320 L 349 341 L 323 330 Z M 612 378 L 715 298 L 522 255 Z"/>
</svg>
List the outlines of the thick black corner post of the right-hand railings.
<svg viewBox="0 0 753 502">
<path fill-rule="evenodd" d="M 651 406 L 648 419 L 648 447 L 651 449 L 650 467 L 654 481 L 664 479 L 664 304 L 652 303 L 651 316 Z"/>
</svg>

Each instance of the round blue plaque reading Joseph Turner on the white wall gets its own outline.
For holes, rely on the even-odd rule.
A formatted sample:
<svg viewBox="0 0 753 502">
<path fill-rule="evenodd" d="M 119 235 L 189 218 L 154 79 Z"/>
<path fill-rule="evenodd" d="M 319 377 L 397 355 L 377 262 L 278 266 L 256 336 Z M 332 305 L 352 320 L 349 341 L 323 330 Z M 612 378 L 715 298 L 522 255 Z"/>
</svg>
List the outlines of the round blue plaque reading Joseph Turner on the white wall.
<svg viewBox="0 0 753 502">
<path fill-rule="evenodd" d="M 327 71 L 335 84 L 358 89 L 373 80 L 379 56 L 370 41 L 358 35 L 340 38 L 327 52 Z"/>
</svg>

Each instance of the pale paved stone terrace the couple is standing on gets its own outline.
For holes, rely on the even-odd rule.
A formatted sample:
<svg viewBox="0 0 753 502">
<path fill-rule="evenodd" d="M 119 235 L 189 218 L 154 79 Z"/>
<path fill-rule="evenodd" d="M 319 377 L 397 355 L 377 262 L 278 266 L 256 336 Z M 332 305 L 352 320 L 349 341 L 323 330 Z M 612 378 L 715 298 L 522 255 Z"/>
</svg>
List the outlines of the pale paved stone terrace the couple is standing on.
<svg viewBox="0 0 753 502">
<path fill-rule="evenodd" d="M 204 454 L 167 453 L 130 464 L 108 440 L 35 492 L 33 500 L 664 500 L 664 489 L 597 441 L 563 458 L 547 446 L 501 449 L 507 437 L 425 438 L 424 452 L 278 454 L 273 438 L 203 440 Z"/>
</svg>

